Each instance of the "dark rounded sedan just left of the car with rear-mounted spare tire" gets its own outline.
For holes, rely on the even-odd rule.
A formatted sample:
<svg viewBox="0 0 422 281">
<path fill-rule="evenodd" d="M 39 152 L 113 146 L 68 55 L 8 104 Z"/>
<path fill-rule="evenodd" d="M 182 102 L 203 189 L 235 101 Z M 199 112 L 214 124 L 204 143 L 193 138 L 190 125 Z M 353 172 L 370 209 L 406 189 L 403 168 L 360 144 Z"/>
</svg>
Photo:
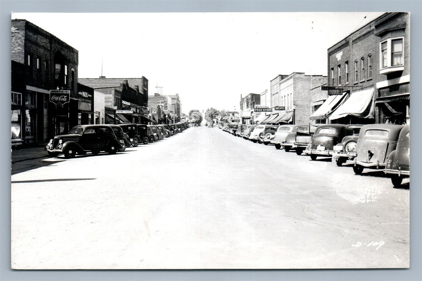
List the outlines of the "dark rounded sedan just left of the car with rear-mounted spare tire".
<svg viewBox="0 0 422 281">
<path fill-rule="evenodd" d="M 318 156 L 331 156 L 334 153 L 334 144 L 344 138 L 346 125 L 344 124 L 325 124 L 317 127 L 314 132 L 311 143 L 303 151 L 311 156 L 312 160 Z"/>
</svg>

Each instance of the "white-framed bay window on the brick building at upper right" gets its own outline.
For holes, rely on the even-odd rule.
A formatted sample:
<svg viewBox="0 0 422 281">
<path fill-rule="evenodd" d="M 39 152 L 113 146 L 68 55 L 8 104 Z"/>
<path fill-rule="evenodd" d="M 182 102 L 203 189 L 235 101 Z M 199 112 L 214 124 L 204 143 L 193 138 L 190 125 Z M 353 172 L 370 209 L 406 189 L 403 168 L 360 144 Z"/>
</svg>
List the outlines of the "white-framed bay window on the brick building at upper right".
<svg viewBox="0 0 422 281">
<path fill-rule="evenodd" d="M 404 69 L 404 29 L 383 33 L 379 43 L 379 73 L 387 74 Z"/>
</svg>

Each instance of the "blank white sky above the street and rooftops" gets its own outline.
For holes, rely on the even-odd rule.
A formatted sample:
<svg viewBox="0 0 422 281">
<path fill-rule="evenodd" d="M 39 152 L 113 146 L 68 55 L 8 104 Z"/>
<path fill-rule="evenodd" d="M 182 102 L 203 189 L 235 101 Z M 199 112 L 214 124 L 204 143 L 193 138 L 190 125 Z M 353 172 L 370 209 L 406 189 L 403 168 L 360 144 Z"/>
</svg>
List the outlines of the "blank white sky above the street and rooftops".
<svg viewBox="0 0 422 281">
<path fill-rule="evenodd" d="M 327 49 L 382 13 L 14 13 L 79 51 L 79 78 L 149 79 L 182 112 L 239 109 L 278 74 L 327 75 Z M 364 17 L 366 19 L 364 19 Z M 314 22 L 314 24 L 312 24 Z M 312 26 L 314 27 L 312 30 Z"/>
</svg>

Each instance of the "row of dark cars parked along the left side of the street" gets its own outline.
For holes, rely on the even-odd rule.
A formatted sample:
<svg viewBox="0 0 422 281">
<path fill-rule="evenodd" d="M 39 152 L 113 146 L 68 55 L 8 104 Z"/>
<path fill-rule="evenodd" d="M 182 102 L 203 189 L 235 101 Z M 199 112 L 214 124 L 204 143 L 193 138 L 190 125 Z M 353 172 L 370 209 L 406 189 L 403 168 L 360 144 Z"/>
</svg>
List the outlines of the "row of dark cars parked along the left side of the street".
<svg viewBox="0 0 422 281">
<path fill-rule="evenodd" d="M 56 135 L 46 145 L 51 157 L 64 154 L 65 158 L 85 155 L 87 152 L 109 154 L 121 152 L 127 146 L 153 143 L 189 128 L 188 123 L 144 125 L 144 124 L 97 124 L 78 125 L 67 135 Z"/>
</svg>

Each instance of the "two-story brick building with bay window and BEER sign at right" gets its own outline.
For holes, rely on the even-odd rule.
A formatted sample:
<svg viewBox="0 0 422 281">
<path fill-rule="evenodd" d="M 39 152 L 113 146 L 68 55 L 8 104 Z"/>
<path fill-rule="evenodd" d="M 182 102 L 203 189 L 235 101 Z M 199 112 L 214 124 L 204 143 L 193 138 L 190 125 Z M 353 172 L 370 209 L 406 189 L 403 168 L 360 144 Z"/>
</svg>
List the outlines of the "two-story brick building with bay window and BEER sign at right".
<svg viewBox="0 0 422 281">
<path fill-rule="evenodd" d="M 324 116 L 340 124 L 409 123 L 409 24 L 407 13 L 385 13 L 331 46 L 327 84 L 343 92 L 329 97 L 311 118 Z"/>
</svg>

